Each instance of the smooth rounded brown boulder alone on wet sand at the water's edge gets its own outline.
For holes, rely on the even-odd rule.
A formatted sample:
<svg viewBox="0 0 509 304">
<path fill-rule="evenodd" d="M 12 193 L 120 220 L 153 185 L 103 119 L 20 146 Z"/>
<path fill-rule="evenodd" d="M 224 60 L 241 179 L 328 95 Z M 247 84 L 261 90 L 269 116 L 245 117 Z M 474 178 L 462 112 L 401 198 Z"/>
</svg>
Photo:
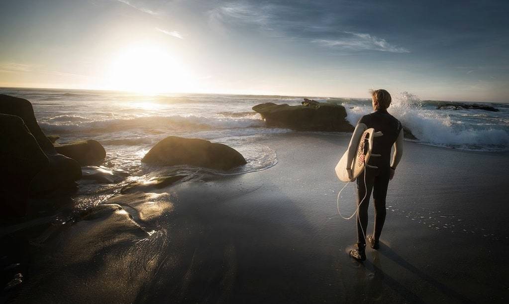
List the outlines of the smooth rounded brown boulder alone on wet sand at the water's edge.
<svg viewBox="0 0 509 304">
<path fill-rule="evenodd" d="M 168 136 L 143 157 L 142 162 L 159 165 L 187 164 L 217 170 L 230 170 L 246 160 L 235 149 L 200 139 Z"/>
</svg>

